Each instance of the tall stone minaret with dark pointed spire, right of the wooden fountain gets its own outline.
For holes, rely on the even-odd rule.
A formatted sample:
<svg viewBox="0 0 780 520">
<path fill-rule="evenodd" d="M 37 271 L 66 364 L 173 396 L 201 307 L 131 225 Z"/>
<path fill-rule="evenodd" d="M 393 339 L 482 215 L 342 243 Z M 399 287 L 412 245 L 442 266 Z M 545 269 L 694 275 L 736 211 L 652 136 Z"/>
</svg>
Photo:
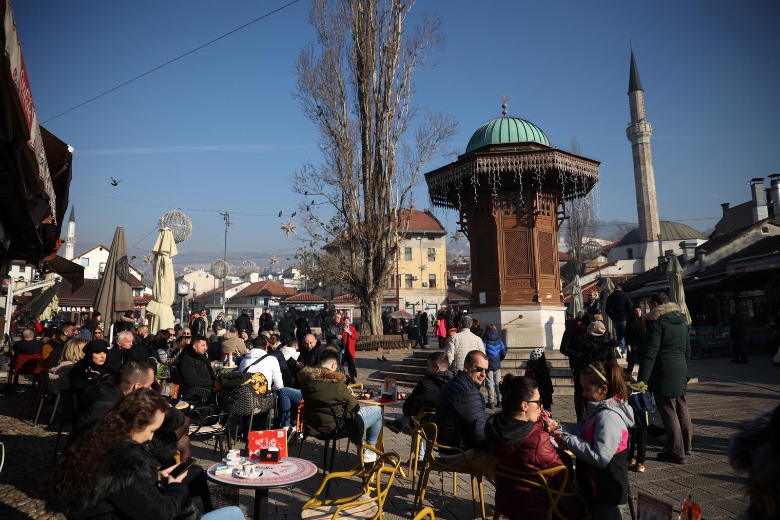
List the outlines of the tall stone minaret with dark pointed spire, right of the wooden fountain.
<svg viewBox="0 0 780 520">
<path fill-rule="evenodd" d="M 653 126 L 644 119 L 644 90 L 636 69 L 631 46 L 631 71 L 629 73 L 629 104 L 631 123 L 626 136 L 631 141 L 634 160 L 634 185 L 636 186 L 636 212 L 639 214 L 640 242 L 654 242 L 661 233 L 658 221 L 658 199 L 655 196 L 653 156 L 650 151 L 650 137 Z"/>
</svg>

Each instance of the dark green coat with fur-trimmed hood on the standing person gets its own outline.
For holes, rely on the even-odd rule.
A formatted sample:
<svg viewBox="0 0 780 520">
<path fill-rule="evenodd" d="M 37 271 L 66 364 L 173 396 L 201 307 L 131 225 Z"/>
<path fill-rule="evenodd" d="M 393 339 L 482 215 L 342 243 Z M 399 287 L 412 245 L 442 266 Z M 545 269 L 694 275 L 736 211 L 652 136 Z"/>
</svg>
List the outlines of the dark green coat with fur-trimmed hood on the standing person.
<svg viewBox="0 0 780 520">
<path fill-rule="evenodd" d="M 647 313 L 643 359 L 638 381 L 668 398 L 686 393 L 690 363 L 690 336 L 676 303 L 665 303 Z"/>
</svg>

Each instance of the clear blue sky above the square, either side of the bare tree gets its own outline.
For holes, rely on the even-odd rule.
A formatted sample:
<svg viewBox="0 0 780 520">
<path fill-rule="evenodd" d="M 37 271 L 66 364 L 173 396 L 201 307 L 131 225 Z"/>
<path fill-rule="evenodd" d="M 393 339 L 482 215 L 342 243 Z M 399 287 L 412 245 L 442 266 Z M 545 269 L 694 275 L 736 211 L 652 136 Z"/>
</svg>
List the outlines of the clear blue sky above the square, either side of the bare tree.
<svg viewBox="0 0 780 520">
<path fill-rule="evenodd" d="M 16 0 L 38 119 L 147 72 L 284 5 L 275 2 Z M 165 207 L 190 208 L 179 263 L 222 250 L 216 212 L 234 214 L 239 264 L 301 244 L 279 230 L 298 200 L 289 175 L 318 161 L 317 134 L 291 92 L 313 32 L 298 2 L 178 62 L 45 124 L 75 149 L 71 200 L 80 243 L 126 229 L 130 254 L 151 249 Z M 534 122 L 558 147 L 580 140 L 601 161 L 600 218 L 636 221 L 626 140 L 629 38 L 654 126 L 659 210 L 705 229 L 748 182 L 778 172 L 778 2 L 465 2 L 421 0 L 448 44 L 417 75 L 416 101 L 459 119 L 452 147 L 501 114 Z M 433 169 L 444 160 L 430 164 Z M 108 177 L 123 179 L 117 187 Z M 87 195 L 87 193 L 91 195 Z M 115 199 L 101 198 L 114 197 Z M 427 207 L 424 183 L 415 195 Z M 130 201 L 140 201 L 134 203 Z M 435 214 L 454 231 L 456 212 Z"/>
</svg>

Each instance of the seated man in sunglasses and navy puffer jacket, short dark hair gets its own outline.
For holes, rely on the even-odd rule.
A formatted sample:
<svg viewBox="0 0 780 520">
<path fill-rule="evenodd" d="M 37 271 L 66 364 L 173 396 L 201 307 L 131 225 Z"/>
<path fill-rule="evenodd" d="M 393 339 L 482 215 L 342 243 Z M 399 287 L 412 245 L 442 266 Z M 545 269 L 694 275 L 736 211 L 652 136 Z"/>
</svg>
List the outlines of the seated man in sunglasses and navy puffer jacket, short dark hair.
<svg viewBox="0 0 780 520">
<path fill-rule="evenodd" d="M 436 401 L 436 426 L 439 444 L 458 447 L 458 451 L 440 450 L 439 455 L 448 465 L 474 469 L 489 479 L 495 477 L 495 462 L 485 438 L 485 401 L 480 387 L 488 373 L 488 356 L 479 350 L 466 355 L 463 370 L 444 387 Z"/>
</svg>

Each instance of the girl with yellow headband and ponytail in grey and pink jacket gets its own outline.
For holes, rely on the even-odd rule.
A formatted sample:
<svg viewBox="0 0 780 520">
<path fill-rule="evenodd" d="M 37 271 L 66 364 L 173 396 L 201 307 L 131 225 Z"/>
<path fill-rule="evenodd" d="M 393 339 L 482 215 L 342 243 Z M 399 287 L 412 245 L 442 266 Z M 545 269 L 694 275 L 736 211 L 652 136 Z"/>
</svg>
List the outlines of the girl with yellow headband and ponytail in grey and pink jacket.
<svg viewBox="0 0 780 520">
<path fill-rule="evenodd" d="M 594 362 L 580 374 L 587 408 L 575 433 L 556 432 L 558 445 L 577 458 L 577 483 L 593 520 L 620 520 L 628 501 L 626 447 L 633 411 L 617 362 Z"/>
</svg>

